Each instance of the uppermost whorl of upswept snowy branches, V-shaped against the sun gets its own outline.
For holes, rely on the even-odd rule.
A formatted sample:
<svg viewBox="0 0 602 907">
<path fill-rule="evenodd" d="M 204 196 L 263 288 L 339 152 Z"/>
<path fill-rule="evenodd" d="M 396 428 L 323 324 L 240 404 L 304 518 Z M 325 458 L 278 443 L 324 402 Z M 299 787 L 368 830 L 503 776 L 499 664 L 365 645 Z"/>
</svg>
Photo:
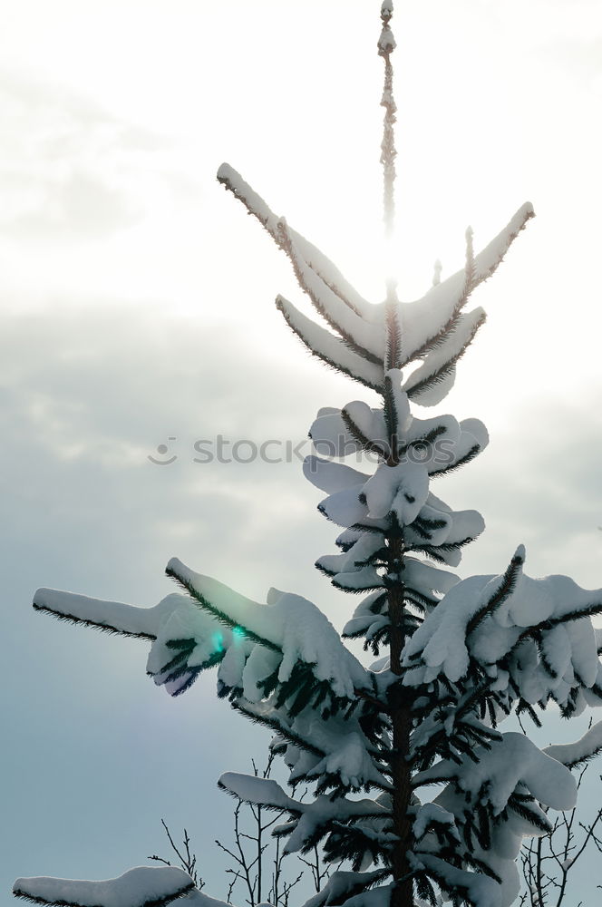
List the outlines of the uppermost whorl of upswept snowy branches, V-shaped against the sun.
<svg viewBox="0 0 602 907">
<path fill-rule="evenodd" d="M 379 42 L 382 53 L 394 46 L 393 34 L 384 26 Z M 533 209 L 523 205 L 480 254 L 472 251 L 467 237 L 465 267 L 432 286 L 420 299 L 399 303 L 391 317 L 390 303 L 371 305 L 351 286 L 338 268 L 303 236 L 277 217 L 257 192 L 228 164 L 218 170 L 218 180 L 242 201 L 286 253 L 299 286 L 310 298 L 328 328 L 307 318 L 284 297 L 277 307 L 288 325 L 316 356 L 360 383 L 384 392 L 389 367 L 415 361 L 422 365 L 409 375 L 404 389 L 422 405 L 435 405 L 453 384 L 455 366 L 484 321 L 481 308 L 463 314 L 471 292 L 496 270 L 510 244 L 523 229 Z M 389 312 L 389 317 L 385 313 Z M 389 362 L 392 325 L 399 331 L 396 361 Z M 385 360 L 386 366 L 385 366 Z"/>
</svg>

